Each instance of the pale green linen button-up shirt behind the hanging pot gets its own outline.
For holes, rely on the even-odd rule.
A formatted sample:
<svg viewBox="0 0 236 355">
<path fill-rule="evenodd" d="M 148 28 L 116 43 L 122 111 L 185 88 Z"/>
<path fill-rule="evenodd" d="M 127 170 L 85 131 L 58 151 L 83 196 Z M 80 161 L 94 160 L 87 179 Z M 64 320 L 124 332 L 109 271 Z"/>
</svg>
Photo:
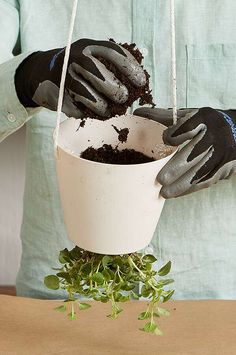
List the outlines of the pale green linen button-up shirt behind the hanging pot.
<svg viewBox="0 0 236 355">
<path fill-rule="evenodd" d="M 14 74 L 31 52 L 65 46 L 72 1 L 0 0 L 0 141 L 26 124 L 26 181 L 17 293 L 37 298 L 60 249 L 72 248 L 60 206 L 52 133 L 56 114 L 24 108 Z M 236 109 L 236 1 L 176 0 L 179 107 Z M 159 107 L 171 107 L 167 0 L 79 0 L 74 40 L 135 42 Z M 65 117 L 63 118 L 65 119 Z M 115 203 L 115 201 L 114 201 Z M 172 260 L 176 299 L 236 296 L 236 178 L 166 201 L 150 252 Z M 96 236 L 94 236 L 96 238 Z"/>
</svg>

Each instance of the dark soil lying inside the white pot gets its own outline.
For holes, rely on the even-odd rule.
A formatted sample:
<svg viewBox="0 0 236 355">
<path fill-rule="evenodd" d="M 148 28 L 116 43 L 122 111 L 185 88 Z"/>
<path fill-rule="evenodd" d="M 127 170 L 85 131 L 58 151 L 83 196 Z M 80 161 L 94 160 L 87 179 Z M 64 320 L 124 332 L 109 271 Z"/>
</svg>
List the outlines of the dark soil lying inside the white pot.
<svg viewBox="0 0 236 355">
<path fill-rule="evenodd" d="M 103 144 L 103 146 L 98 149 L 89 147 L 82 152 L 80 156 L 83 159 L 99 163 L 119 165 L 142 164 L 155 160 L 134 149 L 118 150 L 117 147 L 112 148 L 109 144 Z"/>
</svg>

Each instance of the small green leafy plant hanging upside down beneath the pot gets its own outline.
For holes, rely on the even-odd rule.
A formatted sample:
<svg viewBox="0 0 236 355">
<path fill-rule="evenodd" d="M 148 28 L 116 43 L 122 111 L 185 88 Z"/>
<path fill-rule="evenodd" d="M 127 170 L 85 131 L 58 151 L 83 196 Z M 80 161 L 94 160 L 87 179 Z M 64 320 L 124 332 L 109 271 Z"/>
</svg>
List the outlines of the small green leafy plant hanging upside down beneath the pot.
<svg viewBox="0 0 236 355">
<path fill-rule="evenodd" d="M 155 271 L 153 263 L 156 260 L 151 254 L 102 255 L 76 246 L 71 251 L 60 251 L 59 261 L 63 266 L 54 268 L 57 274 L 46 276 L 44 283 L 49 289 L 61 288 L 68 292 L 66 303 L 56 310 L 67 312 L 71 320 L 76 319 L 79 310 L 91 307 L 80 302 L 81 295 L 104 303 L 110 301 L 111 314 L 107 317 L 111 319 L 122 312 L 120 302 L 144 297 L 149 301 L 148 307 L 138 315 L 138 319 L 147 323 L 140 330 L 161 335 L 156 320 L 162 315 L 169 315 L 169 312 L 159 307 L 159 303 L 168 301 L 173 295 L 174 290 L 166 291 L 164 287 L 174 280 L 157 279 L 157 276 L 169 273 L 171 262 Z M 141 293 L 135 291 L 137 284 L 141 284 Z"/>
</svg>

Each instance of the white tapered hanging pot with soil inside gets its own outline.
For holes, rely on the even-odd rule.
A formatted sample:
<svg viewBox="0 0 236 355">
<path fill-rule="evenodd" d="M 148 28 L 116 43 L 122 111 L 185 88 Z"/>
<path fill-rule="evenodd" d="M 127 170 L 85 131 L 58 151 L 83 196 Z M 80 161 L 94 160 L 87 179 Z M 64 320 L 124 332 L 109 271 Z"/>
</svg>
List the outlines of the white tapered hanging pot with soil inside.
<svg viewBox="0 0 236 355">
<path fill-rule="evenodd" d="M 100 254 L 126 254 L 151 241 L 164 199 L 156 176 L 174 154 L 160 158 L 165 127 L 142 117 L 124 115 L 107 121 L 75 119 L 60 125 L 56 159 L 59 189 L 68 237 L 79 247 Z M 129 128 L 126 143 L 118 129 Z M 135 149 L 155 159 L 150 163 L 114 165 L 80 158 L 89 146 L 104 143 Z M 170 154 L 171 153 L 171 154 Z"/>
</svg>

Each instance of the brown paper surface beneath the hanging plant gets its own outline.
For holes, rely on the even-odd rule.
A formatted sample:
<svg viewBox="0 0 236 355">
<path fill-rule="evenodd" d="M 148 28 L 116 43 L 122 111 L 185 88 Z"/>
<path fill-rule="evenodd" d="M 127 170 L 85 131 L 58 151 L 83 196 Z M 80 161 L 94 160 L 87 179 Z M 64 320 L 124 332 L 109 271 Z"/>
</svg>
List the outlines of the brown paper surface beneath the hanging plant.
<svg viewBox="0 0 236 355">
<path fill-rule="evenodd" d="M 60 304 L 0 296 L 0 355 L 236 354 L 236 301 L 168 302 L 162 337 L 138 330 L 146 302 L 121 304 L 116 320 L 106 318 L 109 304 L 91 302 L 75 321 L 53 310 Z"/>
</svg>

